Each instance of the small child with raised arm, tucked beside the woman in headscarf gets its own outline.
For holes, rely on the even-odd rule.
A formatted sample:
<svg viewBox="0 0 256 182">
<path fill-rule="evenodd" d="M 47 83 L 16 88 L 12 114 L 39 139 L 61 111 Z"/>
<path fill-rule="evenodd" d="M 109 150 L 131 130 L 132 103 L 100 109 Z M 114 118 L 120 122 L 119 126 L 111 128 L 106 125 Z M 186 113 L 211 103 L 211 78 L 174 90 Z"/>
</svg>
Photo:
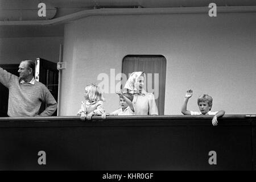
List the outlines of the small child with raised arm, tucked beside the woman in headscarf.
<svg viewBox="0 0 256 182">
<path fill-rule="evenodd" d="M 133 94 L 117 92 L 121 108 L 113 111 L 109 115 L 135 115 L 133 107 Z"/>
</svg>

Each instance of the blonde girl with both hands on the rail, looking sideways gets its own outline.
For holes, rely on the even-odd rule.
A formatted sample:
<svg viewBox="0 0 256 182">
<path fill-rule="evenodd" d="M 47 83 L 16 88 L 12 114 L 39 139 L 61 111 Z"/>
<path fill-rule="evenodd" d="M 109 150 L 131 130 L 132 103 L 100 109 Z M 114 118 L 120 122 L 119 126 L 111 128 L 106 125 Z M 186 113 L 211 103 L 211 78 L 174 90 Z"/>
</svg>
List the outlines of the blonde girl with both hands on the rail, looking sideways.
<svg viewBox="0 0 256 182">
<path fill-rule="evenodd" d="M 102 119 L 105 118 L 105 110 L 103 108 L 104 97 L 102 96 L 101 90 L 97 85 L 89 84 L 85 87 L 84 93 L 85 101 L 82 101 L 81 109 L 77 115 L 82 120 L 90 120 L 93 115 L 101 115 Z"/>
</svg>

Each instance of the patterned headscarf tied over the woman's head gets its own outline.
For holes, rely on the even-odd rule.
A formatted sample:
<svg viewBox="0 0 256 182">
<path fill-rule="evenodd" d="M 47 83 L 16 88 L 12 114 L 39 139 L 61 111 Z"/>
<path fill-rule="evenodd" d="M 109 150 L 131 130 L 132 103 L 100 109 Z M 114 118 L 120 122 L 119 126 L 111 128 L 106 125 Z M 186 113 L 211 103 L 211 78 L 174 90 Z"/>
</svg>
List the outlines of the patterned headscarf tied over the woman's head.
<svg viewBox="0 0 256 182">
<path fill-rule="evenodd" d="M 135 84 L 139 80 L 139 77 L 142 74 L 144 76 L 144 72 L 133 72 L 133 73 L 131 73 L 130 77 L 126 81 L 126 84 L 125 84 L 125 87 L 124 87 L 124 91 L 126 91 L 127 93 L 142 94 L 144 90 L 142 90 L 141 86 L 140 86 L 139 90 L 137 88 L 135 88 Z"/>
</svg>

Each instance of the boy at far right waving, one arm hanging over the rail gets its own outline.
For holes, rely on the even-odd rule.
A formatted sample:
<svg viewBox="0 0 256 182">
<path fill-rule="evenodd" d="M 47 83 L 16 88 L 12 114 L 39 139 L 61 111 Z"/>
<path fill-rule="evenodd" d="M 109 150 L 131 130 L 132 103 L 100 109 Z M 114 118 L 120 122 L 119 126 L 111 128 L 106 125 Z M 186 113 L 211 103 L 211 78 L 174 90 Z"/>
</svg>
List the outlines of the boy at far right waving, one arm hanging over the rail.
<svg viewBox="0 0 256 182">
<path fill-rule="evenodd" d="M 224 110 L 220 110 L 218 112 L 212 112 L 210 109 L 212 109 L 212 97 L 210 97 L 208 94 L 203 94 L 199 96 L 197 99 L 197 105 L 199 106 L 199 109 L 201 112 L 194 112 L 194 111 L 189 111 L 187 110 L 187 104 L 189 98 L 192 97 L 192 90 L 188 90 L 187 93 L 185 94 L 185 99 L 184 99 L 184 104 L 181 107 L 181 113 L 184 115 L 214 115 L 212 119 L 212 124 L 213 126 L 218 125 L 217 118 L 222 117 L 222 115 L 225 114 Z"/>
</svg>

